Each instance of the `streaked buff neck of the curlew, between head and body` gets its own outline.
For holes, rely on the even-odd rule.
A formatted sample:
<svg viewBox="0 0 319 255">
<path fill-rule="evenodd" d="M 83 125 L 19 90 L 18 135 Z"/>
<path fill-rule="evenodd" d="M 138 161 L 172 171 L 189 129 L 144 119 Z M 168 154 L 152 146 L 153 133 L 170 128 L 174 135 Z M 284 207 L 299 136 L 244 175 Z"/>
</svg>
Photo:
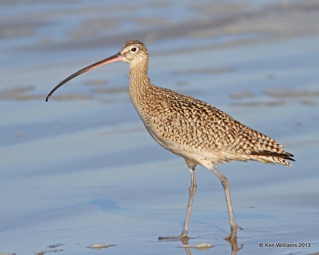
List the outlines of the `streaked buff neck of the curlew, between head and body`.
<svg viewBox="0 0 319 255">
<path fill-rule="evenodd" d="M 154 85 L 148 76 L 148 65 L 130 66 L 130 96 L 136 108 L 147 100 Z"/>
</svg>

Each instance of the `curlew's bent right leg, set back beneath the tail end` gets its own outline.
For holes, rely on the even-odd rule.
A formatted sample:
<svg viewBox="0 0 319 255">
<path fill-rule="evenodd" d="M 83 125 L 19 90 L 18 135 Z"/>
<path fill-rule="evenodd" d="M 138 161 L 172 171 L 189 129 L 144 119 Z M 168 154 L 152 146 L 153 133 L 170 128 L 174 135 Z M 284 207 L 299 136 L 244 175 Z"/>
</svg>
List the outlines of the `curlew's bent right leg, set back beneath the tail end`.
<svg viewBox="0 0 319 255">
<path fill-rule="evenodd" d="M 226 203 L 227 203 L 229 220 L 230 220 L 230 231 L 229 231 L 228 235 L 225 237 L 225 239 L 235 240 L 237 238 L 237 229 L 240 229 L 240 230 L 243 230 L 243 229 L 242 229 L 242 227 L 237 225 L 235 218 L 234 218 L 233 208 L 231 206 L 231 200 L 230 200 L 228 179 L 221 172 L 219 172 L 215 167 L 213 167 L 211 170 L 221 180 L 221 184 L 223 185 L 224 190 L 225 190 Z"/>
</svg>

